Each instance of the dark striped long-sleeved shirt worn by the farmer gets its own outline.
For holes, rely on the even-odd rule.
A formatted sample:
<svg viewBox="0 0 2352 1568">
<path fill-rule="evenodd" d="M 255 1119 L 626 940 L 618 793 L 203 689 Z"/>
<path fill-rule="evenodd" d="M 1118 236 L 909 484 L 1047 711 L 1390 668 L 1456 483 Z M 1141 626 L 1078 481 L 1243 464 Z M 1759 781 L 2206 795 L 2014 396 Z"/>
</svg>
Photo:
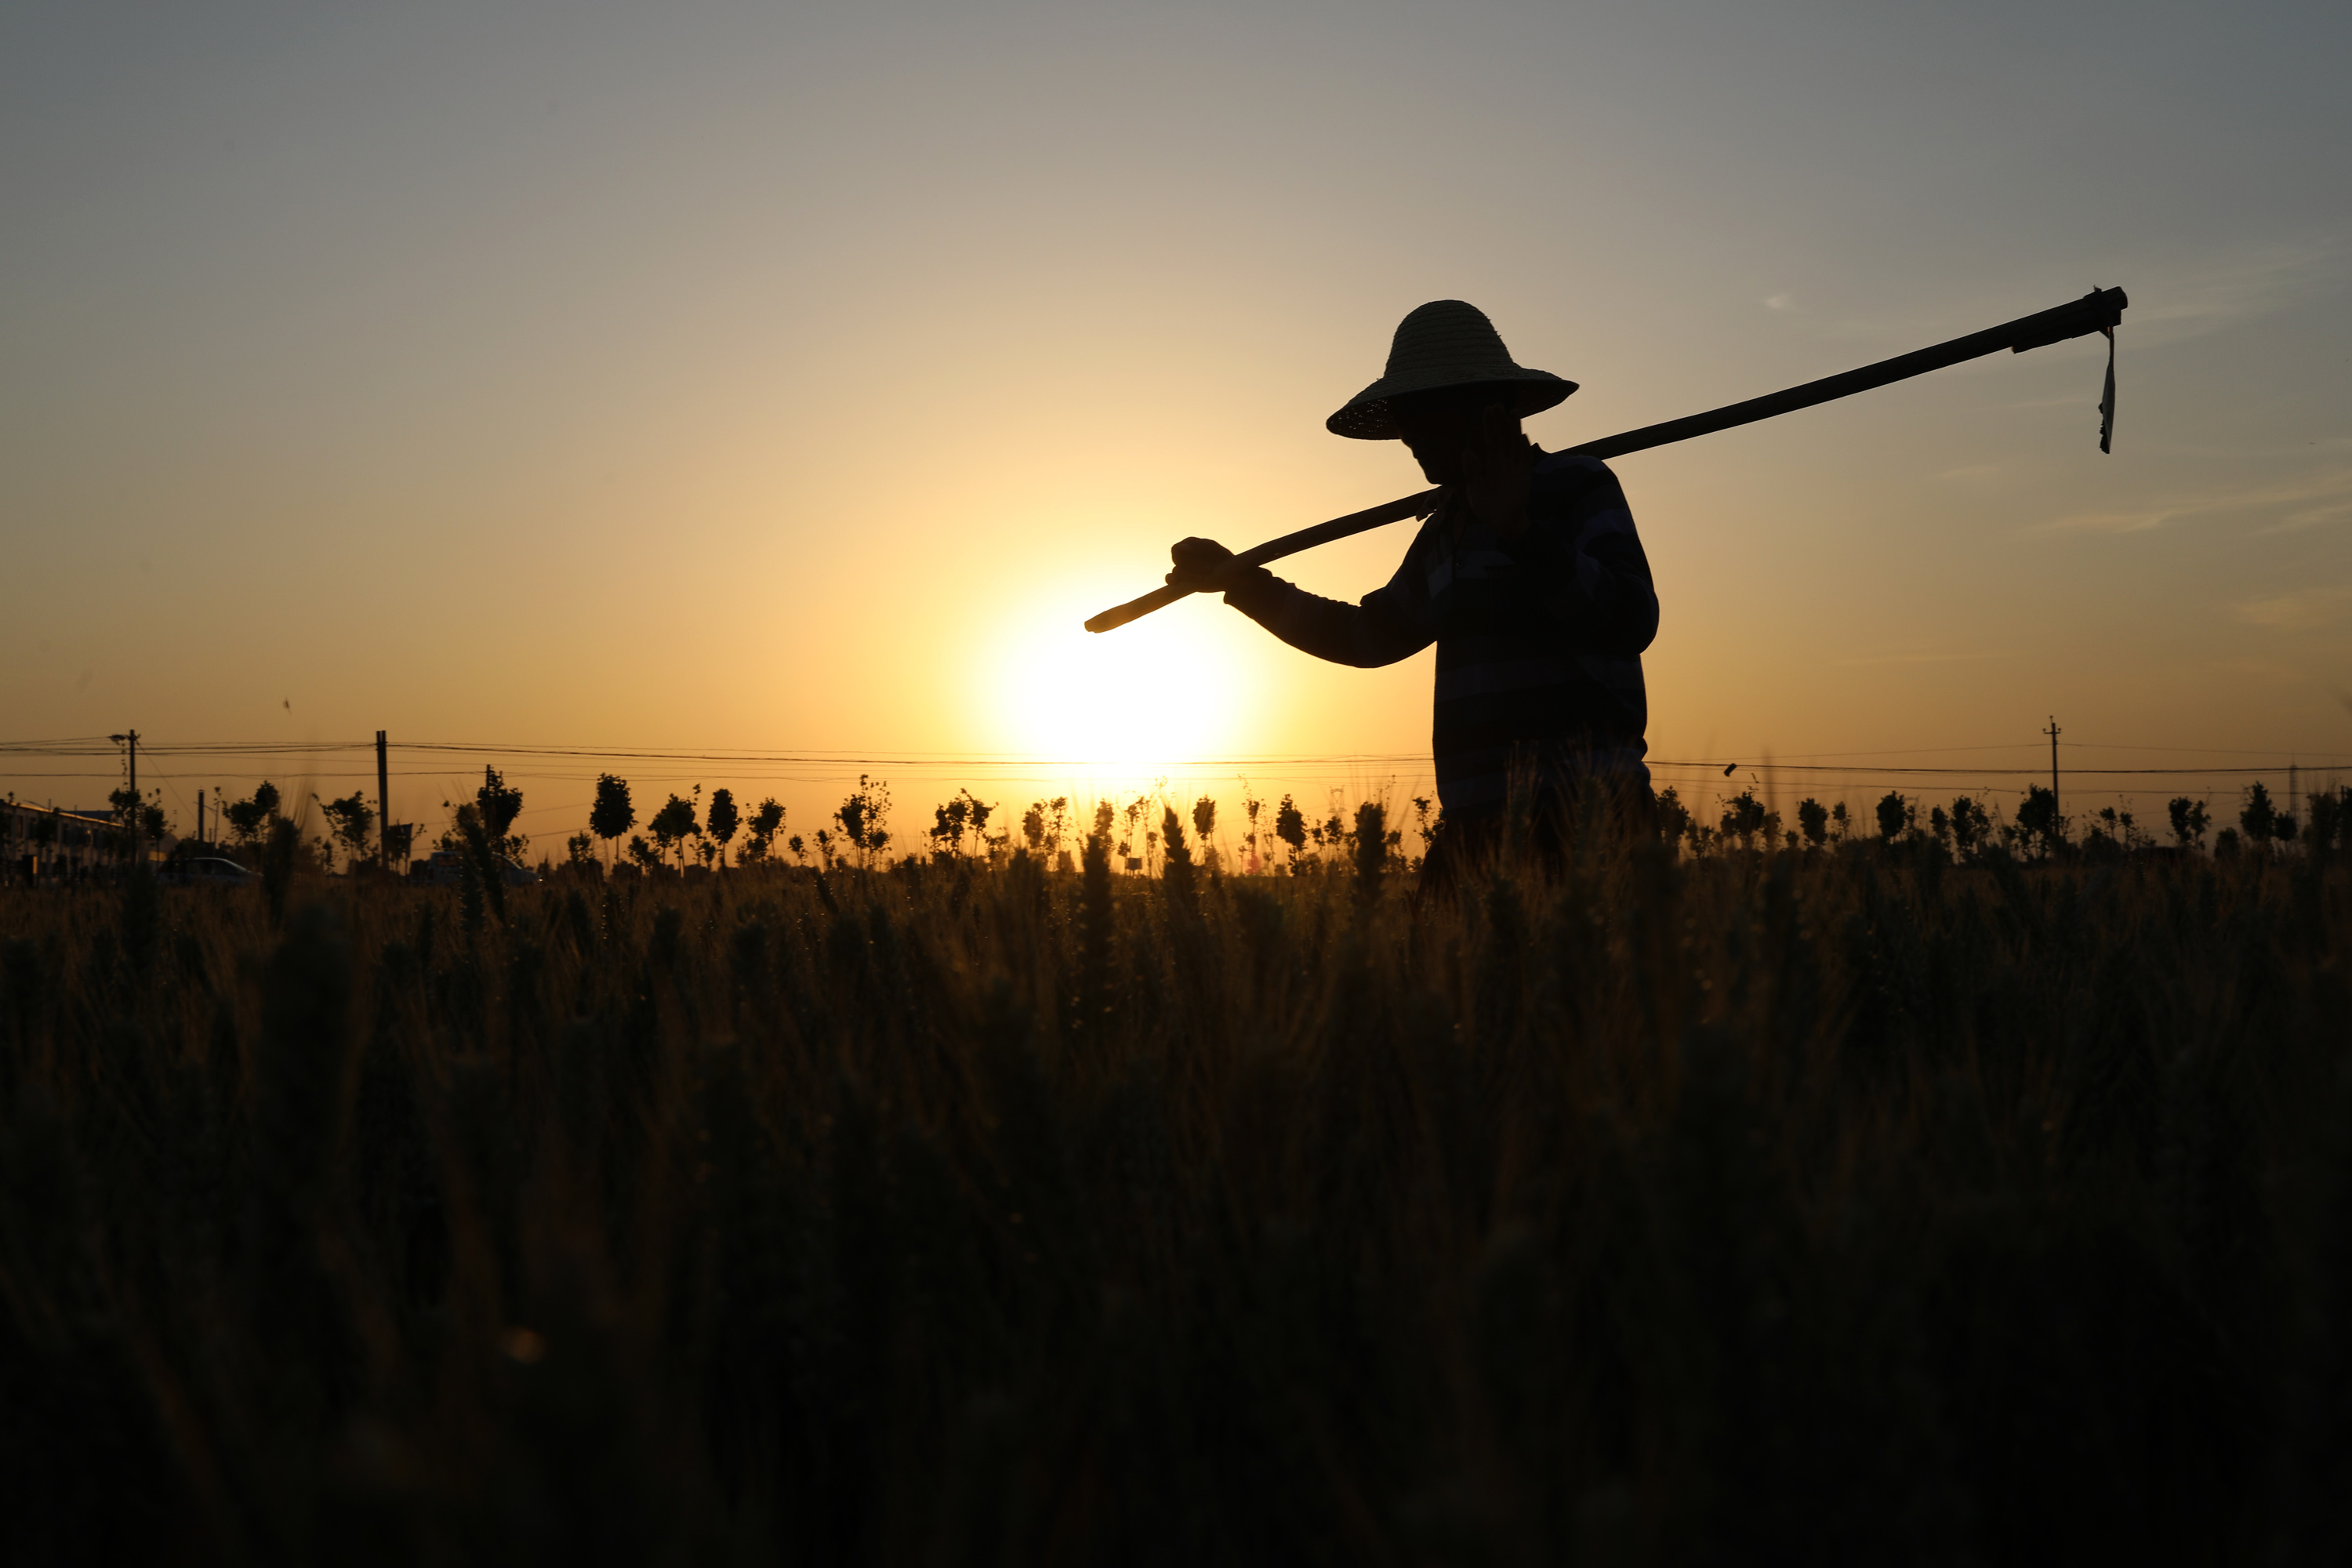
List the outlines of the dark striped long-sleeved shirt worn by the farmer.
<svg viewBox="0 0 2352 1568">
<path fill-rule="evenodd" d="M 1649 557 L 1599 458 L 1536 451 L 1529 527 L 1501 538 L 1437 508 L 1385 588 L 1341 604 L 1251 571 L 1225 602 L 1282 642 L 1343 665 L 1392 665 L 1437 644 L 1430 750 L 1437 799 L 1503 804 L 1515 771 L 1649 785 L 1642 649 L 1658 635 Z"/>
</svg>

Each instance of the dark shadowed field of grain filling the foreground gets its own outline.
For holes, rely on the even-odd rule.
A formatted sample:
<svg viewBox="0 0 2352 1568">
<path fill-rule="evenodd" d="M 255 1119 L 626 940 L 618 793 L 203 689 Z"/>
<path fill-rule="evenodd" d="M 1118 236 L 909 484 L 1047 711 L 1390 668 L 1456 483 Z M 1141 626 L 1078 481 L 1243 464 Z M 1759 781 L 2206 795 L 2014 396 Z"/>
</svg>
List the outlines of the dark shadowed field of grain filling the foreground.
<svg viewBox="0 0 2352 1568">
<path fill-rule="evenodd" d="M 1378 870 L 0 893 L 0 1556 L 2352 1554 L 2340 858 Z"/>
</svg>

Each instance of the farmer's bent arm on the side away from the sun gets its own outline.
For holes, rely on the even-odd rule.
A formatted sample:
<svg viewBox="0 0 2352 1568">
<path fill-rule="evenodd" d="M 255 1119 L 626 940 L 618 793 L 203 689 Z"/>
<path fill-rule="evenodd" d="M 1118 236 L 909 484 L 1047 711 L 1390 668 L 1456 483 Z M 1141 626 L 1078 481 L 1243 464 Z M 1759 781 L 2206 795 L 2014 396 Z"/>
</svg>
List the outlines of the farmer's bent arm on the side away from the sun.
<svg viewBox="0 0 2352 1568">
<path fill-rule="evenodd" d="M 1557 454 L 1536 465 L 1529 522 L 1501 541 L 1536 609 L 1588 654 L 1639 654 L 1658 635 L 1658 590 L 1613 473 Z"/>
</svg>

